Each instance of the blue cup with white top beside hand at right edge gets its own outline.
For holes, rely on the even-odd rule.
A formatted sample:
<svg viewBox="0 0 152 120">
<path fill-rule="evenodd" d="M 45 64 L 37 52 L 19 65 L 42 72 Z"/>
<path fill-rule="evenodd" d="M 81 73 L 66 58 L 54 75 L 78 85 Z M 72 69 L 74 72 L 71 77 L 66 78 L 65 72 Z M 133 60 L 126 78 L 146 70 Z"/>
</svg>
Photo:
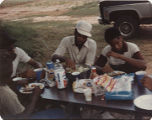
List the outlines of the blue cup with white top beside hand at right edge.
<svg viewBox="0 0 152 120">
<path fill-rule="evenodd" d="M 135 73 L 135 77 L 139 86 L 143 86 L 141 80 L 146 75 L 146 71 L 138 71 Z"/>
</svg>

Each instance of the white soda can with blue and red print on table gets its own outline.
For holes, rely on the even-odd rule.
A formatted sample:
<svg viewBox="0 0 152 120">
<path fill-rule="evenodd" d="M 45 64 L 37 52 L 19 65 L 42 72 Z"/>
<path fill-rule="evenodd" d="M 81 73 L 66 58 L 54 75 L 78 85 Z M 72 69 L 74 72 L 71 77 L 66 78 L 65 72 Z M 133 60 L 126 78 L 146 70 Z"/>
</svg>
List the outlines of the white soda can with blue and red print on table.
<svg viewBox="0 0 152 120">
<path fill-rule="evenodd" d="M 63 89 L 67 87 L 67 78 L 64 69 L 57 69 L 54 71 L 55 81 L 58 89 Z"/>
</svg>

